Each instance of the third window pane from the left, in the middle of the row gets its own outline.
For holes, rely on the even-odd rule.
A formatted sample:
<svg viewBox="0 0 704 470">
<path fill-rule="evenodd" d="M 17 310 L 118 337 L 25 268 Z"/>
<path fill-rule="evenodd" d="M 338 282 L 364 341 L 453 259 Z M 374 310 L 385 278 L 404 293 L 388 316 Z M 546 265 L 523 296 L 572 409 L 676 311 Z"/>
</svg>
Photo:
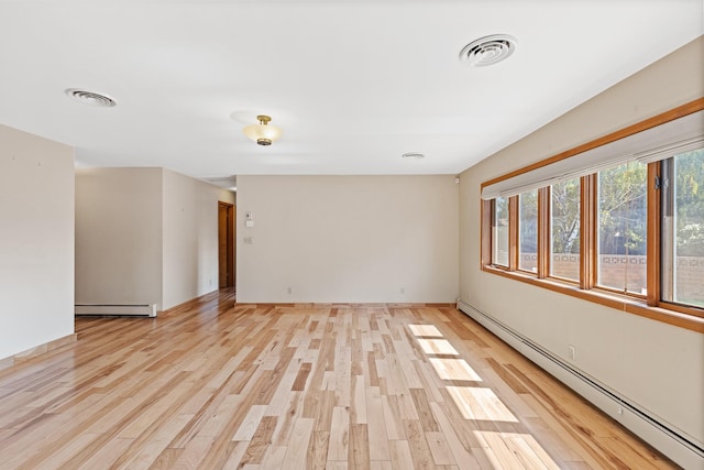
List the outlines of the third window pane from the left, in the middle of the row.
<svg viewBox="0 0 704 470">
<path fill-rule="evenodd" d="M 550 275 L 580 281 L 580 179 L 550 187 Z"/>
</svg>

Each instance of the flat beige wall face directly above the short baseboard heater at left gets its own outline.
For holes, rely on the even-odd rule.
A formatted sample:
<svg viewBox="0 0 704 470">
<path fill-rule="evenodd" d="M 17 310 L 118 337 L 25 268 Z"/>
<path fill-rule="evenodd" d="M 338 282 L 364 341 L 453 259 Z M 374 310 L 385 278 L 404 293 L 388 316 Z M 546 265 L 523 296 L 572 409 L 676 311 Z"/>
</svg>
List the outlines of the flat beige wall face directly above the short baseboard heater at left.
<svg viewBox="0 0 704 470">
<path fill-rule="evenodd" d="M 76 304 L 162 309 L 162 173 L 76 170 Z"/>
</svg>

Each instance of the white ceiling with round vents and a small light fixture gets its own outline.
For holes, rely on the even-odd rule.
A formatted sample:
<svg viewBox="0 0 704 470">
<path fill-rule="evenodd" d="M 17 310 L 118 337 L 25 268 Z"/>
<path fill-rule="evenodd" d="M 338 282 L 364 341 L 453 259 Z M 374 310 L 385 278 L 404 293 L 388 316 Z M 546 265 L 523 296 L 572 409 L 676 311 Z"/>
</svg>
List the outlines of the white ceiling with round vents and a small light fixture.
<svg viewBox="0 0 704 470">
<path fill-rule="evenodd" d="M 0 0 L 0 123 L 77 165 L 457 174 L 704 33 L 702 0 Z M 490 34 L 507 61 L 458 58 Z M 118 101 L 89 107 L 64 90 Z M 242 128 L 272 116 L 280 141 Z M 422 152 L 422 160 L 402 159 Z"/>
</svg>

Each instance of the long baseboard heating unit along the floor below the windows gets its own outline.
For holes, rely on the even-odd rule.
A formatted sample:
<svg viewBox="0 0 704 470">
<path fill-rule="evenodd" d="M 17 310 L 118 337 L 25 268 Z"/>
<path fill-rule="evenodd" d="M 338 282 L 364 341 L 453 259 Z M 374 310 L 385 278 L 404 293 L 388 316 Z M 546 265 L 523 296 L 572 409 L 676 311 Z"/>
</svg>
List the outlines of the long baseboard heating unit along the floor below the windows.
<svg viewBox="0 0 704 470">
<path fill-rule="evenodd" d="M 675 463 L 685 469 L 704 469 L 704 447 L 695 439 L 663 423 L 647 409 L 629 402 L 618 392 L 588 376 L 491 315 L 473 307 L 466 300 L 458 299 L 457 307 Z"/>
</svg>

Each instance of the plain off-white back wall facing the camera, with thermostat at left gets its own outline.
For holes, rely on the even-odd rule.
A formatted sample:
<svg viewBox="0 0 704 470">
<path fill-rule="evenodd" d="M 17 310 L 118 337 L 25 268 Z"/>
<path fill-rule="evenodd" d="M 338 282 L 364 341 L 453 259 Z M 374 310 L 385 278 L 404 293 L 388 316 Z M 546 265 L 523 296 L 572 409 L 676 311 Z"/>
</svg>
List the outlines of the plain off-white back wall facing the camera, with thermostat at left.
<svg viewBox="0 0 704 470">
<path fill-rule="evenodd" d="M 238 176 L 238 302 L 454 302 L 458 195 L 448 175 Z"/>
</svg>

